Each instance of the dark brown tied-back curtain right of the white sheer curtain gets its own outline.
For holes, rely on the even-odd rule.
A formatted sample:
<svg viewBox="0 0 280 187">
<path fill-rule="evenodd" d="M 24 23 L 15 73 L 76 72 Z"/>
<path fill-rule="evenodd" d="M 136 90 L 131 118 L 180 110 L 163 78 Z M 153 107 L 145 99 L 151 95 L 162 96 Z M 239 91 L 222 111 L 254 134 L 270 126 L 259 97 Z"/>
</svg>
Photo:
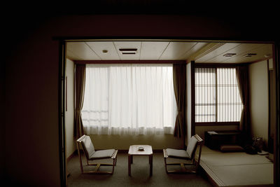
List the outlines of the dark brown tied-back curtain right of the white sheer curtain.
<svg viewBox="0 0 280 187">
<path fill-rule="evenodd" d="M 174 137 L 185 139 L 186 64 L 173 64 L 173 84 L 178 109 Z"/>
</svg>

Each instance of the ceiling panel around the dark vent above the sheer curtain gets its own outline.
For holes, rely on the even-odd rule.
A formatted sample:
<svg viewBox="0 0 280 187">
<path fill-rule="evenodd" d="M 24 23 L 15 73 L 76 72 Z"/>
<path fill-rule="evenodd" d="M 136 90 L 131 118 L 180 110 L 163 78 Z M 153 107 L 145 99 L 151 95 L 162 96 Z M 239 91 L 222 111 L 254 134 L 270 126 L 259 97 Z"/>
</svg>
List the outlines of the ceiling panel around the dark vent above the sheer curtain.
<svg viewBox="0 0 280 187">
<path fill-rule="evenodd" d="M 120 60 L 139 60 L 141 51 L 141 41 L 114 41 L 117 53 Z M 137 53 L 135 55 L 123 55 L 120 52 L 120 48 L 137 48 Z"/>
</svg>

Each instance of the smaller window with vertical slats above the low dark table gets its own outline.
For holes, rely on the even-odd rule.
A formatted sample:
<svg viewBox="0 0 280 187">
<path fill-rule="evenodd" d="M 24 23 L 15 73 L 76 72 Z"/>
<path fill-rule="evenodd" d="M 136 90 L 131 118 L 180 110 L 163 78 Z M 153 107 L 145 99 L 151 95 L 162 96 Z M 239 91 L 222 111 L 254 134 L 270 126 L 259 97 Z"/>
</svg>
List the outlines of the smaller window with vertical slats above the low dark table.
<svg viewBox="0 0 280 187">
<path fill-rule="evenodd" d="M 243 104 L 235 68 L 195 68 L 195 122 L 238 122 Z"/>
</svg>

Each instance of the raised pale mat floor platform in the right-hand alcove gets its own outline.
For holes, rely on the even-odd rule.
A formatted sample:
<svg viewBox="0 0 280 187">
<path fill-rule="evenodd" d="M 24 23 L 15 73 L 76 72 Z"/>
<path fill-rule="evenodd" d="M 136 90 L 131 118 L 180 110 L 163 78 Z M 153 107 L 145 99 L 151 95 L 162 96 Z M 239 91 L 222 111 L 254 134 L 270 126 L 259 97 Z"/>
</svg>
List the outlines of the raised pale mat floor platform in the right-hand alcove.
<svg viewBox="0 0 280 187">
<path fill-rule="evenodd" d="M 273 184 L 273 163 L 265 155 L 222 153 L 203 146 L 200 166 L 214 186 Z"/>
</svg>

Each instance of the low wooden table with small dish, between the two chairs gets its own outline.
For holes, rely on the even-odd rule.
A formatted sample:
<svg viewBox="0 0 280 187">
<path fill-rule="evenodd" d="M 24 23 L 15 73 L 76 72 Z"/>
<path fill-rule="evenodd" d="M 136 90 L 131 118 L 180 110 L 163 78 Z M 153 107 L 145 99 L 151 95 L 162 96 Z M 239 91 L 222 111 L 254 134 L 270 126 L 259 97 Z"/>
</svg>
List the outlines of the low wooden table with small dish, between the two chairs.
<svg viewBox="0 0 280 187">
<path fill-rule="evenodd" d="M 139 151 L 139 147 L 143 147 L 144 151 Z M 128 151 L 128 175 L 131 176 L 131 164 L 133 162 L 133 155 L 148 155 L 150 164 L 150 176 L 153 175 L 153 148 L 148 145 L 133 145 Z"/>
</svg>

